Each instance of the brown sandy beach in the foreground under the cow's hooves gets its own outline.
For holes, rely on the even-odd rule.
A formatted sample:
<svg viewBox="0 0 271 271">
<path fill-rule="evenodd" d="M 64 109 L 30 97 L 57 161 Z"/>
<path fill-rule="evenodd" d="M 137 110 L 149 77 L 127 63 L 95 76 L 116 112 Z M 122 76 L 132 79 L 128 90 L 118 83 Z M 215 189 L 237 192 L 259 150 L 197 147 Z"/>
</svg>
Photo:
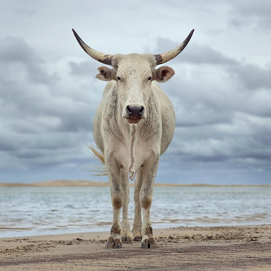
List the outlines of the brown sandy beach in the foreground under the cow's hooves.
<svg viewBox="0 0 271 271">
<path fill-rule="evenodd" d="M 0 270 L 271 270 L 271 225 L 154 233 L 156 249 L 106 249 L 104 232 L 0 238 Z"/>
</svg>

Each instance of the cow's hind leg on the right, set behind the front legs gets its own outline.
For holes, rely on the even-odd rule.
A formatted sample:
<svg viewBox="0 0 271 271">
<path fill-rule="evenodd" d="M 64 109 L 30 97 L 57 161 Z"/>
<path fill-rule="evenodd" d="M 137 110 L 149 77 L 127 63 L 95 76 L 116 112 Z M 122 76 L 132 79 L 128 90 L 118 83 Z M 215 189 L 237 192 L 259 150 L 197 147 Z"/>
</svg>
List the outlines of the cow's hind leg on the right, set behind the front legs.
<svg viewBox="0 0 271 271">
<path fill-rule="evenodd" d="M 133 224 L 133 235 L 134 241 L 141 241 L 141 227 L 142 227 L 142 219 L 141 219 L 141 206 L 139 203 L 139 192 L 142 186 L 143 180 L 143 169 L 137 169 L 136 178 L 135 178 L 135 191 L 134 191 L 134 202 L 135 202 L 135 218 Z"/>
</svg>

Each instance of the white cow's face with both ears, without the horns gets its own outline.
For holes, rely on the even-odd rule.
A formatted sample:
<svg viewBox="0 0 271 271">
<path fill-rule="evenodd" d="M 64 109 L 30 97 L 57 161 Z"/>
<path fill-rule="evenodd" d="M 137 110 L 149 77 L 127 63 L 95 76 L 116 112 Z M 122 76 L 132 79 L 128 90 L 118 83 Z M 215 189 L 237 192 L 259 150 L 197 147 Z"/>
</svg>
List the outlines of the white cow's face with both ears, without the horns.
<svg viewBox="0 0 271 271">
<path fill-rule="evenodd" d="M 153 80 L 166 82 L 174 75 L 174 70 L 167 66 L 155 69 L 153 55 L 120 55 L 112 60 L 114 68 L 100 67 L 97 78 L 117 82 L 117 93 L 122 110 L 122 118 L 128 123 L 139 123 L 147 118 L 147 104 Z"/>
</svg>

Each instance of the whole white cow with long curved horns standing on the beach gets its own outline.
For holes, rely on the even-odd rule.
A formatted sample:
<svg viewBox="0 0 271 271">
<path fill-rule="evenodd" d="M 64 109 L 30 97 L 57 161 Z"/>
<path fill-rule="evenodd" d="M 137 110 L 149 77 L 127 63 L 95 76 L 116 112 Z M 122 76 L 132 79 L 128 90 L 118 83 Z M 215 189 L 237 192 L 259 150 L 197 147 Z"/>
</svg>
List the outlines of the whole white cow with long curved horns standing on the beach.
<svg viewBox="0 0 271 271">
<path fill-rule="evenodd" d="M 176 57 L 194 30 L 176 48 L 162 54 L 103 54 L 89 47 L 72 29 L 78 43 L 100 67 L 96 78 L 108 81 L 96 111 L 93 136 L 110 184 L 113 222 L 106 248 L 141 241 L 141 248 L 157 248 L 150 219 L 153 186 L 160 156 L 172 140 L 175 112 L 157 82 L 166 82 L 174 70 L 155 68 Z M 136 177 L 135 177 L 136 176 Z M 135 218 L 128 219 L 129 178 L 135 178 Z M 122 221 L 120 220 L 122 209 Z M 141 218 L 142 211 L 142 218 Z"/>
</svg>

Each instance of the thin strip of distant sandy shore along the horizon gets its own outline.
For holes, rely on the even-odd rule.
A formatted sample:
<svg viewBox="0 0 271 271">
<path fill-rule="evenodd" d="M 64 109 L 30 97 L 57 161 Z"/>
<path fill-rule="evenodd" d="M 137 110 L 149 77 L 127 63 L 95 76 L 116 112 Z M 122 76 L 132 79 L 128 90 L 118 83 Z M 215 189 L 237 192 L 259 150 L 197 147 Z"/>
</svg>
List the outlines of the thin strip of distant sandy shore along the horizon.
<svg viewBox="0 0 271 271">
<path fill-rule="evenodd" d="M 134 186 L 134 182 L 130 182 Z M 155 187 L 271 187 L 269 184 L 258 185 L 216 185 L 216 184 L 170 184 L 155 183 Z M 35 183 L 0 183 L 0 187 L 109 187 L 108 182 L 87 180 L 53 180 Z"/>
</svg>

